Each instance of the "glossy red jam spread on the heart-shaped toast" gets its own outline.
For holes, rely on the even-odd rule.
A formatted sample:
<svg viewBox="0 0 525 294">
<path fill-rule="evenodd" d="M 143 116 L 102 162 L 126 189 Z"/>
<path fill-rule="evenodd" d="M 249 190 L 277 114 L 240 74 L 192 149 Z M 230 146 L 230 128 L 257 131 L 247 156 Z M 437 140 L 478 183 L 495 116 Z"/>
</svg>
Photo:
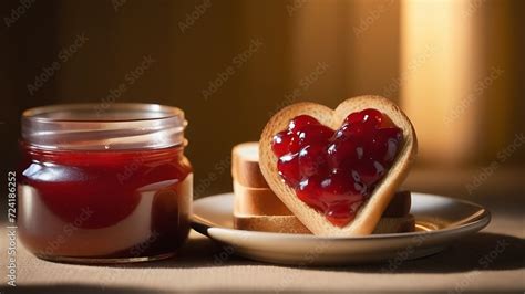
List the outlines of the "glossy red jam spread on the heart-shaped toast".
<svg viewBox="0 0 525 294">
<path fill-rule="evenodd" d="M 402 129 L 377 109 L 350 114 L 333 130 L 300 115 L 274 136 L 277 169 L 297 197 L 344 227 L 390 169 L 403 143 Z"/>
</svg>

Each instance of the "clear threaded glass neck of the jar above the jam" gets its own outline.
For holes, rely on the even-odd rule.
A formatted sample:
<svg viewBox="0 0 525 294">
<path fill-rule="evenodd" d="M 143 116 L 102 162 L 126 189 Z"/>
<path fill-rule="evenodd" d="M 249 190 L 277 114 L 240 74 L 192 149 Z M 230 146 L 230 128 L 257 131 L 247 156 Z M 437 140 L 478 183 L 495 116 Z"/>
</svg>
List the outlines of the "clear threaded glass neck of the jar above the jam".
<svg viewBox="0 0 525 294">
<path fill-rule="evenodd" d="M 43 149 L 123 150 L 186 144 L 177 107 L 143 103 L 58 104 L 22 114 L 22 139 Z"/>
</svg>

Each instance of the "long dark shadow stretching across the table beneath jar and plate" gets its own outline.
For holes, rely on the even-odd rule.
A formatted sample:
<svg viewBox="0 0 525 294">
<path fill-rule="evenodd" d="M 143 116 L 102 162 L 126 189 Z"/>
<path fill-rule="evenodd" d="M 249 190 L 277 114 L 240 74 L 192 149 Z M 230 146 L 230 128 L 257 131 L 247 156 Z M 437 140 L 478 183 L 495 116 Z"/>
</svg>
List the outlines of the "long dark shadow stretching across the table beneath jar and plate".
<svg viewBox="0 0 525 294">
<path fill-rule="evenodd" d="M 400 258 L 389 260 L 387 263 L 348 266 L 289 266 L 305 271 L 338 271 L 358 273 L 457 273 L 473 270 L 516 270 L 523 269 L 525 263 L 525 242 L 523 239 L 496 234 L 477 233 L 470 238 L 459 240 L 451 248 L 441 253 L 408 260 Z M 400 252 L 402 253 L 402 252 Z M 220 246 L 207 238 L 192 238 L 173 259 L 110 265 L 124 269 L 198 269 L 219 267 L 230 265 L 275 265 L 271 263 L 256 262 L 239 258 L 230 246 Z M 96 265 L 93 265 L 96 266 Z M 107 265 L 103 265 L 107 266 Z"/>
</svg>

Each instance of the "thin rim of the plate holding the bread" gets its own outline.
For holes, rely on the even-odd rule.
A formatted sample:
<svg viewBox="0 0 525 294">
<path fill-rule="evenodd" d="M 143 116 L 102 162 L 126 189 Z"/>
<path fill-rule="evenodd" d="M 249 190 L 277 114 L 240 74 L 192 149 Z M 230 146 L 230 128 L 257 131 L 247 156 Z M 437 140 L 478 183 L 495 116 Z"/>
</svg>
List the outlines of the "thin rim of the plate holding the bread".
<svg viewBox="0 0 525 294">
<path fill-rule="evenodd" d="M 217 193 L 217 195 L 212 195 L 212 196 L 206 196 L 203 198 L 199 198 L 194 201 L 194 206 L 196 202 L 204 201 L 207 198 L 219 198 L 219 197 L 226 197 L 226 196 L 233 196 L 233 192 L 226 192 L 226 193 Z M 477 204 L 475 202 L 464 200 L 464 199 L 456 199 L 452 197 L 446 197 L 446 196 L 440 196 L 440 195 L 432 195 L 432 193 L 423 193 L 423 192 L 412 192 L 412 195 L 421 195 L 424 197 L 433 197 L 433 198 L 446 198 L 452 201 L 456 202 L 462 202 L 464 204 L 469 204 L 472 207 L 476 207 L 482 210 L 482 212 L 478 216 L 475 216 L 473 220 L 470 220 L 465 223 L 459 224 L 456 227 L 451 227 L 451 228 L 444 228 L 444 229 L 437 229 L 437 230 L 432 230 L 432 231 L 419 231 L 419 232 L 406 232 L 406 233 L 385 233 L 385 234 L 368 234 L 368 235 L 353 235 L 353 237 L 325 237 L 325 235 L 315 235 L 315 234 L 297 234 L 297 233 L 276 233 L 276 232 L 259 232 L 259 231 L 249 231 L 249 230 L 239 230 L 239 229 L 234 229 L 234 228 L 225 228 L 225 227 L 216 227 L 203 219 L 200 219 L 198 216 L 196 216 L 194 212 L 192 212 L 191 217 L 191 224 L 192 228 L 196 231 L 198 231 L 195 225 L 204 225 L 207 230 L 213 230 L 213 231 L 224 231 L 227 233 L 244 233 L 248 235 L 258 235 L 258 237 L 265 237 L 265 238 L 278 238 L 278 239 L 298 239 L 300 238 L 301 240 L 305 241 L 370 241 L 370 240 L 377 240 L 377 239 L 400 239 L 400 238 L 414 238 L 414 237 L 420 237 L 420 235 L 425 235 L 425 237 L 439 237 L 441 234 L 450 234 L 451 232 L 464 232 L 464 231 L 481 231 L 485 227 L 488 225 L 488 223 L 492 220 L 492 214 L 491 212 L 483 206 Z"/>
</svg>

